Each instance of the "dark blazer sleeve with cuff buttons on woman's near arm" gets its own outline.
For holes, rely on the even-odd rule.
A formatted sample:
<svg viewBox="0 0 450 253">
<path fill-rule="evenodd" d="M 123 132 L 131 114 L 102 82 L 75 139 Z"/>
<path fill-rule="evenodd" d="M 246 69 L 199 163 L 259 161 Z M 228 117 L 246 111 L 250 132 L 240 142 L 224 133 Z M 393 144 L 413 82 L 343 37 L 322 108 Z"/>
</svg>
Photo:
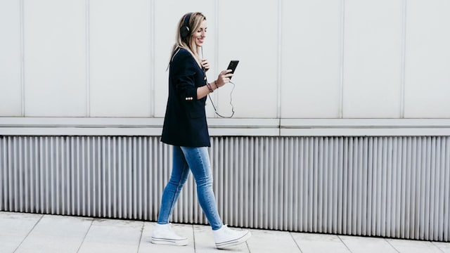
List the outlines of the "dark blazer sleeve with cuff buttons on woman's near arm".
<svg viewBox="0 0 450 253">
<path fill-rule="evenodd" d="M 172 67 L 172 82 L 176 94 L 181 100 L 187 102 L 197 100 L 197 86 L 195 86 L 195 69 L 197 63 L 195 62 L 191 53 L 186 50 L 181 50 L 174 57 L 171 64 Z"/>
</svg>

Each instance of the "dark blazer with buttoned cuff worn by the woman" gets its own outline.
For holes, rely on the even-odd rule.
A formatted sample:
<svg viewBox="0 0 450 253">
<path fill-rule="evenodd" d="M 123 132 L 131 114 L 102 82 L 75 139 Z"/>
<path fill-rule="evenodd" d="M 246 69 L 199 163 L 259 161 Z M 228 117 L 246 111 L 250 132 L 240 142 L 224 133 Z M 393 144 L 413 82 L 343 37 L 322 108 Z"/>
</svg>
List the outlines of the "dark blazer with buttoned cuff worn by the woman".
<svg viewBox="0 0 450 253">
<path fill-rule="evenodd" d="M 179 49 L 169 66 L 169 98 L 161 141 L 186 147 L 209 147 L 210 134 L 205 113 L 206 97 L 197 99 L 197 88 L 206 76 L 191 53 Z"/>
</svg>

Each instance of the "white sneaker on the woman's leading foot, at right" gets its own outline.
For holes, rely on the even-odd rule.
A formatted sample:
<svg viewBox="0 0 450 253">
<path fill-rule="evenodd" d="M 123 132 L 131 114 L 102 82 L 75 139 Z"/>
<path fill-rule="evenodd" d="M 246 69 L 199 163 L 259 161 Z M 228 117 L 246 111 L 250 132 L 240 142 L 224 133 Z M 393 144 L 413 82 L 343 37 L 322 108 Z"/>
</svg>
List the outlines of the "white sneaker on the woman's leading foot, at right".
<svg viewBox="0 0 450 253">
<path fill-rule="evenodd" d="M 212 231 L 212 233 L 214 234 L 217 249 L 238 245 L 252 236 L 250 231 L 234 231 L 226 225 L 222 226 L 217 231 Z"/>
</svg>

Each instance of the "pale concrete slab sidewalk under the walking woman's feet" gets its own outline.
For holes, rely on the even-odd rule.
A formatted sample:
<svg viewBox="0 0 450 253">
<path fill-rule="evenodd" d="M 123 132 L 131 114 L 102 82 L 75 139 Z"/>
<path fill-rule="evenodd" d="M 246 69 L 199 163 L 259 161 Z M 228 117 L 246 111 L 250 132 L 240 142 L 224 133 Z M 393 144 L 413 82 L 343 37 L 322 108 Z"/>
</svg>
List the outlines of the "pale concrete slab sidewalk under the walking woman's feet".
<svg viewBox="0 0 450 253">
<path fill-rule="evenodd" d="M 185 247 L 153 245 L 155 223 L 0 212 L 0 253 L 9 252 L 401 252 L 450 253 L 450 242 L 425 242 L 252 229 L 243 245 L 216 249 L 209 226 L 173 224 Z"/>
</svg>

